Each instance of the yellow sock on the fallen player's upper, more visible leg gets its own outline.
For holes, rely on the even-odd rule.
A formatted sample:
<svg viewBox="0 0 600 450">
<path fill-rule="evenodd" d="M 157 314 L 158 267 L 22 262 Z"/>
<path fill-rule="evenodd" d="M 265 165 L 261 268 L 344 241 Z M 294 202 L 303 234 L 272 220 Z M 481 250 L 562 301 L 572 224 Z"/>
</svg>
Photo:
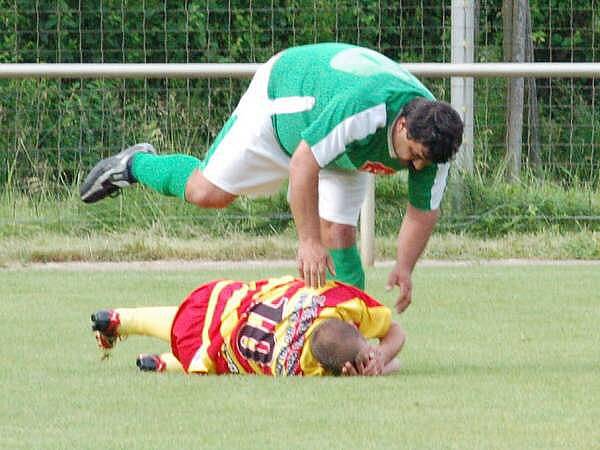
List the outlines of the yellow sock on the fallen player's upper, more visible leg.
<svg viewBox="0 0 600 450">
<path fill-rule="evenodd" d="M 116 311 L 121 320 L 118 329 L 121 336 L 138 334 L 171 342 L 171 325 L 177 313 L 177 306 L 118 308 Z"/>
</svg>

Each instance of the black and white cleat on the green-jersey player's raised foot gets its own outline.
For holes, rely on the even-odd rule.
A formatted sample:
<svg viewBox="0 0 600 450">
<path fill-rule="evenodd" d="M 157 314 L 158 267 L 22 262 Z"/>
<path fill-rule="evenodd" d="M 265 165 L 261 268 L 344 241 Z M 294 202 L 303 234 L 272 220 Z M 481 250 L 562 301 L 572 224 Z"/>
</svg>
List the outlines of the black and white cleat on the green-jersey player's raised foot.
<svg viewBox="0 0 600 450">
<path fill-rule="evenodd" d="M 96 164 L 79 187 L 81 200 L 94 203 L 135 183 L 129 163 L 133 155 L 140 152 L 156 154 L 152 145 L 136 144 Z"/>
</svg>

